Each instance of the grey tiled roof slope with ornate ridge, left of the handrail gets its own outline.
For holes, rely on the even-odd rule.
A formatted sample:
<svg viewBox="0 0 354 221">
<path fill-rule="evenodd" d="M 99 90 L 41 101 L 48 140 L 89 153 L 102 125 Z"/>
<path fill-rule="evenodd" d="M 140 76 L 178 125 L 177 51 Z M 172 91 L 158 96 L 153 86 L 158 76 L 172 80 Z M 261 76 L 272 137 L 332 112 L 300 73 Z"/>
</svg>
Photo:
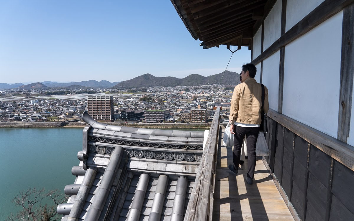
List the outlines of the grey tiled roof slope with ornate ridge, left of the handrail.
<svg viewBox="0 0 354 221">
<path fill-rule="evenodd" d="M 62 220 L 183 220 L 204 132 L 118 127 L 94 121 L 83 132 L 79 166 Z"/>
</svg>

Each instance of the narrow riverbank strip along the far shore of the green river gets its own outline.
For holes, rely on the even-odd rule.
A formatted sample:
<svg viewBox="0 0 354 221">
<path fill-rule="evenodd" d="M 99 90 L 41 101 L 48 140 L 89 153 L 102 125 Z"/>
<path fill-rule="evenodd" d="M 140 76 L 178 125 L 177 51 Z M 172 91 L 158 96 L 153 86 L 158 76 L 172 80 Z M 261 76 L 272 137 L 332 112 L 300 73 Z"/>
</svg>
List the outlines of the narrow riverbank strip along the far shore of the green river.
<svg viewBox="0 0 354 221">
<path fill-rule="evenodd" d="M 104 122 L 107 123 L 107 122 Z M 126 126 L 126 127 L 140 127 L 140 128 L 190 128 L 190 129 L 209 129 L 210 124 L 206 123 L 110 123 L 107 124 L 115 126 Z M 81 122 L 0 122 L 0 128 L 50 128 L 50 127 L 85 127 L 86 123 Z"/>
</svg>

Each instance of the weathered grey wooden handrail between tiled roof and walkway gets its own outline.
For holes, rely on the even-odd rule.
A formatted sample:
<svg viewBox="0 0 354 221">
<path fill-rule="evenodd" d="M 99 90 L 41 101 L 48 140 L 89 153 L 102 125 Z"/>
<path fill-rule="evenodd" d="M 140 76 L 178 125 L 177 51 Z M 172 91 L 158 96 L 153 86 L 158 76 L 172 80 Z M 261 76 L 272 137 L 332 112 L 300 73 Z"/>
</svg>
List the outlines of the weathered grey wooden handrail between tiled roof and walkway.
<svg viewBox="0 0 354 221">
<path fill-rule="evenodd" d="M 184 221 L 212 219 L 220 108 L 216 109 L 195 177 Z"/>
</svg>

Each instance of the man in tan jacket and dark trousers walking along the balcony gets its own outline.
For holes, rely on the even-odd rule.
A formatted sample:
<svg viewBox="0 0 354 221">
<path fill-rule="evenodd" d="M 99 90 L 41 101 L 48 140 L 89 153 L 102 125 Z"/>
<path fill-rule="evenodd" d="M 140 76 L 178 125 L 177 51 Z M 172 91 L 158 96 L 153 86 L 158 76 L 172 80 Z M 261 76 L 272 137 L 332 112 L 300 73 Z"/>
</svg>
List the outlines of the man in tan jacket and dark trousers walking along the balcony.
<svg viewBox="0 0 354 221">
<path fill-rule="evenodd" d="M 264 106 L 262 107 L 262 86 L 255 80 L 257 68 L 254 64 L 242 65 L 241 82 L 236 85 L 231 99 L 230 132 L 234 134 L 233 165 L 229 169 L 238 173 L 240 152 L 244 137 L 247 140 L 248 173 L 246 181 L 253 184 L 256 168 L 256 143 L 261 124 L 261 111 L 268 112 L 268 89 L 264 86 Z"/>
</svg>

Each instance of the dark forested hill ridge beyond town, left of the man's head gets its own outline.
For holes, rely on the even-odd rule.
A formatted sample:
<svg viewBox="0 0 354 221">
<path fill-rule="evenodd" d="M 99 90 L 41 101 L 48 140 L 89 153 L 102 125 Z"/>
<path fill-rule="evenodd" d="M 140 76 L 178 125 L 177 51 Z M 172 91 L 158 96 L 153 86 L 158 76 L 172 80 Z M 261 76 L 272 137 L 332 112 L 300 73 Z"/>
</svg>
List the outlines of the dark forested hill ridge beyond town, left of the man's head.
<svg viewBox="0 0 354 221">
<path fill-rule="evenodd" d="M 174 87 L 174 86 L 198 86 L 208 84 L 237 85 L 240 83 L 240 74 L 232 71 L 224 71 L 220 74 L 207 77 L 192 74 L 184 78 L 177 77 L 155 77 L 151 74 L 144 74 L 128 81 L 119 82 L 112 88 L 138 88 L 138 87 Z"/>
</svg>

